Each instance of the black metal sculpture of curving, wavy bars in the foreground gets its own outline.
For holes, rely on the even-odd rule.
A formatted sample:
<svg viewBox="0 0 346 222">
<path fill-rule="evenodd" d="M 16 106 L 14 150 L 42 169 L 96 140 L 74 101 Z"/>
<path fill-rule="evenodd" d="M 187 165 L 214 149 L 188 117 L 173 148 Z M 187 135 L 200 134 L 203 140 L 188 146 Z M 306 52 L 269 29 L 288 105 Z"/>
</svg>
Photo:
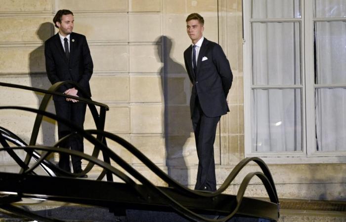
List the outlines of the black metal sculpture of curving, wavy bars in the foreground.
<svg viewBox="0 0 346 222">
<path fill-rule="evenodd" d="M 275 185 L 268 167 L 261 159 L 257 157 L 243 159 L 234 167 L 224 183 L 215 192 L 191 190 L 169 177 L 130 143 L 117 135 L 104 131 L 105 114 L 108 110 L 106 105 L 94 102 L 90 98 L 73 97 L 56 92 L 56 89 L 62 84 L 74 84 L 78 90 L 82 91 L 78 84 L 71 81 L 58 82 L 52 85 L 49 90 L 0 82 L 0 86 L 33 90 L 45 94 L 38 110 L 14 106 L 0 107 L 0 111 L 15 109 L 37 114 L 29 145 L 26 145 L 23 140 L 9 130 L 2 127 L 0 128 L 0 144 L 3 147 L 0 148 L 0 152 L 7 152 L 21 169 L 17 174 L 0 172 L 0 191 L 15 193 L 0 197 L 0 208 L 36 220 L 58 221 L 56 219 L 42 218 L 31 212 L 23 212 L 22 209 L 12 205 L 12 203 L 17 202 L 21 198 L 27 197 L 106 207 L 111 212 L 120 212 L 126 209 L 174 211 L 182 217 L 192 221 L 221 222 L 227 221 L 235 215 L 266 218 L 272 221 L 278 220 L 279 200 Z M 51 95 L 78 99 L 81 102 L 87 103 L 92 113 L 96 129 L 83 130 L 66 119 L 60 118 L 53 113 L 46 112 L 45 109 Z M 100 113 L 97 112 L 96 106 L 100 107 Z M 43 116 L 68 125 L 74 132 L 87 139 L 94 146 L 92 155 L 75 150 L 58 148 L 59 144 L 67 140 L 73 134 L 57 141 L 52 147 L 36 145 Z M 106 143 L 107 140 L 116 142 L 130 151 L 130 153 L 137 157 L 154 174 L 166 182 L 168 187 L 156 186 L 151 183 L 117 153 L 108 148 Z M 13 143 L 17 147 L 10 147 L 8 142 Z M 26 151 L 27 154 L 24 161 L 16 154 L 15 150 Z M 103 154 L 103 161 L 97 158 L 100 151 Z M 51 153 L 78 155 L 82 159 L 88 161 L 87 167 L 80 174 L 63 171 L 49 161 L 48 156 Z M 35 160 L 35 163 L 29 165 L 32 158 Z M 117 163 L 127 174 L 111 165 L 110 160 Z M 262 172 L 253 172 L 246 175 L 239 187 L 237 195 L 223 194 L 223 191 L 231 184 L 242 168 L 251 161 L 259 165 Z M 76 177 L 89 172 L 94 165 L 103 169 L 96 181 L 76 179 Z M 39 166 L 45 170 L 47 176 L 35 174 L 35 170 Z M 56 175 L 63 177 L 56 177 Z M 131 179 L 128 175 L 139 183 L 136 183 L 135 180 Z M 102 181 L 105 176 L 107 181 Z M 124 183 L 113 182 L 113 176 L 121 179 Z M 247 186 L 255 176 L 261 180 L 270 201 L 244 197 Z M 78 189 L 62 190 L 59 188 L 66 184 L 72 185 L 71 187 L 78 187 Z M 93 190 L 93 192 L 90 192 L 90 190 Z M 209 219 L 201 216 L 201 213 L 220 215 L 221 218 Z"/>
</svg>

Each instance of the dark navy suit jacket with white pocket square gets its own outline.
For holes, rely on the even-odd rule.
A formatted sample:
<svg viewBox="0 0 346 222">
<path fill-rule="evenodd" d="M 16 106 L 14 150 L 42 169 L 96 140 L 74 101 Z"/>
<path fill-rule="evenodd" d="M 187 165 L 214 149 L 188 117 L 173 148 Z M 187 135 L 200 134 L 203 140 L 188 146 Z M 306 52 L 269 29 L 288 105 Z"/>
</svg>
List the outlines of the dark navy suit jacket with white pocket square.
<svg viewBox="0 0 346 222">
<path fill-rule="evenodd" d="M 208 58 L 202 61 L 202 58 Z M 197 60 L 196 74 L 192 68 L 192 47 L 184 51 L 187 74 L 193 84 L 190 111 L 191 117 L 198 100 L 202 111 L 208 117 L 226 114 L 229 109 L 226 98 L 232 85 L 233 75 L 226 55 L 220 45 L 204 38 Z"/>
</svg>

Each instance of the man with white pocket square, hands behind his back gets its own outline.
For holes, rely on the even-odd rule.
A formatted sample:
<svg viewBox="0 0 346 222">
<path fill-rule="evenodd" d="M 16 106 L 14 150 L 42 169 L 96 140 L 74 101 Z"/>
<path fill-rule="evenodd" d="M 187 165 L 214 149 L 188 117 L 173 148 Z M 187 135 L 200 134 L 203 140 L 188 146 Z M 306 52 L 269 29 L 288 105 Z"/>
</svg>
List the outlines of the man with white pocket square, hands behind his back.
<svg viewBox="0 0 346 222">
<path fill-rule="evenodd" d="M 192 45 L 184 51 L 184 61 L 193 84 L 190 111 L 199 160 L 195 189 L 215 191 L 216 125 L 229 111 L 226 98 L 233 75 L 221 46 L 203 37 L 203 17 L 190 14 L 186 28 Z"/>
</svg>

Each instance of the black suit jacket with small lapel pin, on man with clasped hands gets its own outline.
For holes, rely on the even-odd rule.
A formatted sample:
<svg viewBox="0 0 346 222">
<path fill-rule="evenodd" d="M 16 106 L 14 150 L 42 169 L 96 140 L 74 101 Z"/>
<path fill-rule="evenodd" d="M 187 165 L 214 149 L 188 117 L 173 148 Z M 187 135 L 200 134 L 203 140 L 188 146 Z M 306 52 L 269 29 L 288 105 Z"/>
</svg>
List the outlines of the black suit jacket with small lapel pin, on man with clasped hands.
<svg viewBox="0 0 346 222">
<path fill-rule="evenodd" d="M 91 78 L 93 63 L 87 38 L 78 33 L 70 36 L 70 59 L 67 60 L 59 34 L 50 37 L 44 44 L 45 69 L 49 81 L 54 84 L 59 81 L 72 80 L 79 83 L 91 96 L 89 80 Z M 63 85 L 59 92 L 64 92 L 72 85 Z M 78 92 L 78 96 L 82 96 Z M 63 97 L 53 96 L 54 100 L 65 100 Z"/>
</svg>

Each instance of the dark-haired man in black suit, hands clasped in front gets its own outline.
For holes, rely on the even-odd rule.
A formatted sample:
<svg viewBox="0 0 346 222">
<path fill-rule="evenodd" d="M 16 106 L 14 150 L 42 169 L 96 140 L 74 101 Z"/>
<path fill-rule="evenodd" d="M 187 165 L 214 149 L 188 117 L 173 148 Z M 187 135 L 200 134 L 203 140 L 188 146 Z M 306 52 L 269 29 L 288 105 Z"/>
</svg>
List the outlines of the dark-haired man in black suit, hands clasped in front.
<svg viewBox="0 0 346 222">
<path fill-rule="evenodd" d="M 59 32 L 45 41 L 45 67 L 49 81 L 54 84 L 59 81 L 72 80 L 77 82 L 91 96 L 89 79 L 93 70 L 90 50 L 85 36 L 73 33 L 74 17 L 70 10 L 59 10 L 53 18 Z M 59 92 L 72 96 L 83 96 L 72 85 L 63 85 Z M 58 116 L 69 119 L 83 128 L 87 105 L 78 100 L 53 96 L 55 112 Z M 71 129 L 58 123 L 59 139 L 71 133 Z M 60 147 L 84 151 L 83 138 L 79 135 L 70 137 L 70 140 Z M 82 172 L 81 158 L 72 156 L 74 173 Z M 59 167 L 71 172 L 70 157 L 61 154 Z"/>
</svg>

